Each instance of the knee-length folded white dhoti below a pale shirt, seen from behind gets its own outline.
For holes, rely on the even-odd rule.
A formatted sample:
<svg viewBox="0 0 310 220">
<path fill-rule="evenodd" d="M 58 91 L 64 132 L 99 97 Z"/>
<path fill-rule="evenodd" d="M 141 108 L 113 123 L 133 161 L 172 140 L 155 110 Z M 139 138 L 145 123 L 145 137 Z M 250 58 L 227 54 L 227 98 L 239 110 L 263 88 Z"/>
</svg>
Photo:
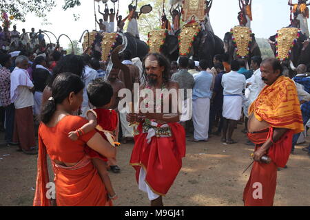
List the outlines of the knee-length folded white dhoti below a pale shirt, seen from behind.
<svg viewBox="0 0 310 220">
<path fill-rule="evenodd" d="M 242 96 L 224 96 L 223 118 L 230 120 L 240 120 L 242 111 Z"/>
</svg>

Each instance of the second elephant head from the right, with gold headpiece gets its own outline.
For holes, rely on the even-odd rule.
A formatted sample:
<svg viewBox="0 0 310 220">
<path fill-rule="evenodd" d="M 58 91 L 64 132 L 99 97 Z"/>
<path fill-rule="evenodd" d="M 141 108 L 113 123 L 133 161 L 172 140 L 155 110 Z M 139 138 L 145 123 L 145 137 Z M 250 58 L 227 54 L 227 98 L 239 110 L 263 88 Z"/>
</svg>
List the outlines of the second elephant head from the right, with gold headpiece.
<svg viewBox="0 0 310 220">
<path fill-rule="evenodd" d="M 224 37 L 225 53 L 229 54 L 229 62 L 233 59 L 245 59 L 250 65 L 252 56 L 262 56 L 256 43 L 255 34 L 250 28 L 236 26 Z"/>
</svg>

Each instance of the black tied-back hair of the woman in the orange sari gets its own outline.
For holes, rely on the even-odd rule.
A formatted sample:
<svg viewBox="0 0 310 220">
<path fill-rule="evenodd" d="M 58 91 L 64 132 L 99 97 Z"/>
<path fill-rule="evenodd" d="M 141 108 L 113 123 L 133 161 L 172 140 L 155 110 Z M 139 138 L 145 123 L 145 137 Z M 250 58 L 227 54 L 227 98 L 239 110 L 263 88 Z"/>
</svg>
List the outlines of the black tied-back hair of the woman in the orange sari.
<svg viewBox="0 0 310 220">
<path fill-rule="evenodd" d="M 84 89 L 84 83 L 79 76 L 72 73 L 59 74 L 52 84 L 52 100 L 48 100 L 41 111 L 41 121 L 44 124 L 50 122 L 56 111 L 56 105 L 61 104 L 73 91 L 78 94 Z"/>
</svg>

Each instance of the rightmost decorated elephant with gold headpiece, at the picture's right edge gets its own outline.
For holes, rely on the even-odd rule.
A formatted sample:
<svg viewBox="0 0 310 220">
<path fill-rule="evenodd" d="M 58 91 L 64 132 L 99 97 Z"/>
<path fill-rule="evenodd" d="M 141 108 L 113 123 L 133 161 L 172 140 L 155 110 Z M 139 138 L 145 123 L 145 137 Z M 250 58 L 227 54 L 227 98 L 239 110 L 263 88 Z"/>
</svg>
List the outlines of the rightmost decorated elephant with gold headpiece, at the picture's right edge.
<svg viewBox="0 0 310 220">
<path fill-rule="evenodd" d="M 276 35 L 270 36 L 269 43 L 276 58 L 291 70 L 295 70 L 300 63 L 310 63 L 309 41 L 298 28 L 278 30 Z"/>
</svg>

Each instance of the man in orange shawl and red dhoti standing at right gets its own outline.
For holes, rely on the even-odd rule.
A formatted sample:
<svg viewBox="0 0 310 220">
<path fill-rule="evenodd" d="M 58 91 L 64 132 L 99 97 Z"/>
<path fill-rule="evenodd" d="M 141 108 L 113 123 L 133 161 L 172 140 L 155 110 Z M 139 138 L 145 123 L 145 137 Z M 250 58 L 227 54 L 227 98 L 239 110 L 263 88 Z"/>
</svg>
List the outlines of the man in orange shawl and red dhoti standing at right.
<svg viewBox="0 0 310 220">
<path fill-rule="evenodd" d="M 267 58 L 260 70 L 267 86 L 249 108 L 248 137 L 256 148 L 243 192 L 245 206 L 273 206 L 277 168 L 287 164 L 293 134 L 304 130 L 296 86 L 282 76 L 280 62 Z M 270 164 L 260 162 L 263 155 L 271 158 Z"/>
</svg>

